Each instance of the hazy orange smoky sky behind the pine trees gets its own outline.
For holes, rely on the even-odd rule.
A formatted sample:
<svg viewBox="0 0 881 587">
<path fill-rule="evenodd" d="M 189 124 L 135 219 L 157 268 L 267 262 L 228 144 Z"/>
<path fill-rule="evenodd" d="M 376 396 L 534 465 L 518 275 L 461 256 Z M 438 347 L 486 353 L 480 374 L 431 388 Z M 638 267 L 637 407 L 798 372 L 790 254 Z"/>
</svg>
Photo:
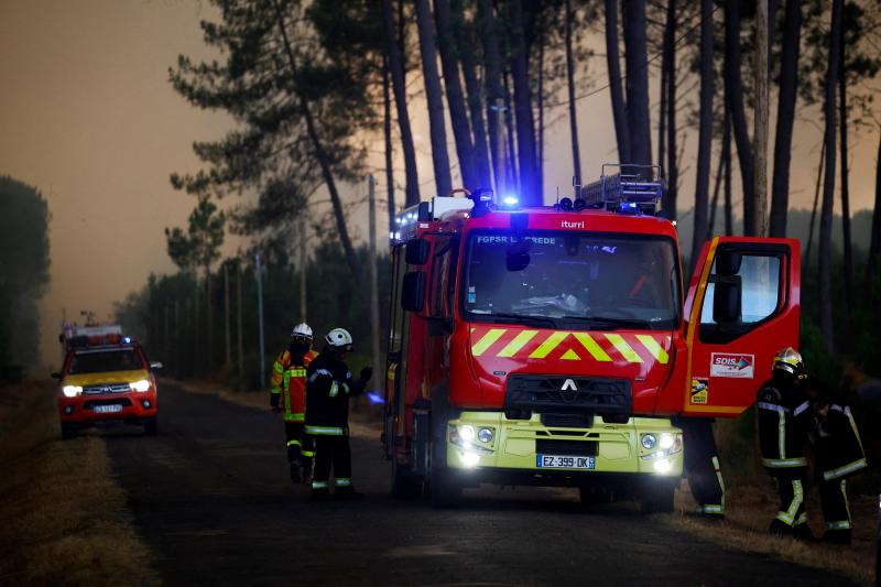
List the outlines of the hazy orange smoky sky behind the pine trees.
<svg viewBox="0 0 881 587">
<path fill-rule="evenodd" d="M 196 170 L 192 142 L 221 137 L 230 121 L 192 108 L 172 89 L 167 69 L 181 53 L 207 55 L 198 21 L 213 14 L 207 2 L 194 1 L 0 0 L 0 175 L 36 186 L 52 213 L 52 284 L 42 326 L 47 363 L 57 360 L 63 308 L 68 317 L 88 308 L 104 319 L 113 301 L 141 287 L 151 271 L 174 270 L 163 228 L 183 226 L 194 200 L 172 189 L 168 174 Z M 589 68 L 605 85 L 603 59 L 592 59 Z M 617 157 L 608 94 L 580 100 L 578 111 L 589 181 L 603 161 Z M 414 104 L 411 112 L 427 197 L 433 183 L 423 105 Z M 546 135 L 547 199 L 556 185 L 570 184 L 568 124 L 559 118 L 565 113 L 548 113 L 557 122 Z M 820 120 L 818 113 L 803 115 Z M 818 138 L 814 126 L 796 130 L 794 207 L 809 206 L 813 197 Z M 855 139 L 855 210 L 873 202 L 877 141 L 877 130 Z M 690 170 L 696 142 L 695 135 L 686 141 L 684 164 Z M 381 138 L 371 149 L 381 152 Z M 374 163 L 382 180 L 381 160 Z M 687 209 L 694 177 L 686 172 L 682 181 L 679 207 Z M 360 195 L 363 188 L 349 186 L 346 193 Z M 365 233 L 365 207 L 354 211 L 356 236 Z"/>
</svg>

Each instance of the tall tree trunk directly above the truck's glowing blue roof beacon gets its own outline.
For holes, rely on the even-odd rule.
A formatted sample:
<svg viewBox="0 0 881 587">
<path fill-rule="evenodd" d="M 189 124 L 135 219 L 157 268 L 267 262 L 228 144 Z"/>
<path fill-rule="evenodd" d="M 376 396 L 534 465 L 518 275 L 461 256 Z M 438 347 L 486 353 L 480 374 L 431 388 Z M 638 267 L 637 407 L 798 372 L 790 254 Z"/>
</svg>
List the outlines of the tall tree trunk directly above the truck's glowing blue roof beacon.
<svg viewBox="0 0 881 587">
<path fill-rule="evenodd" d="M 496 26 L 496 17 L 492 8 L 492 0 L 478 0 L 477 18 L 480 21 L 480 37 L 483 41 L 483 67 L 485 84 L 487 86 L 487 121 L 489 127 L 489 144 L 492 152 L 492 175 L 496 180 L 496 189 L 501 191 L 501 186 L 508 184 L 508 170 L 504 165 L 504 145 L 498 144 L 502 141 L 502 129 L 499 128 L 499 108 L 504 107 L 504 93 L 502 90 L 502 62 L 499 50 L 499 32 Z"/>
</svg>

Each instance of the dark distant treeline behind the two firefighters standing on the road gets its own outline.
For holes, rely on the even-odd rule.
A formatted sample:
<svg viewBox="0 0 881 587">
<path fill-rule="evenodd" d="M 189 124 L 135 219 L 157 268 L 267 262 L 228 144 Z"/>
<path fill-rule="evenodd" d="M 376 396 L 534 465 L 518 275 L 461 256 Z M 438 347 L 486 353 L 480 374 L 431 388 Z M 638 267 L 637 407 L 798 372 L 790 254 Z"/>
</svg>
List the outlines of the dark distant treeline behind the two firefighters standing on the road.
<svg viewBox="0 0 881 587">
<path fill-rule="evenodd" d="M 355 252 L 363 268 L 361 274 L 367 275 L 367 247 L 358 247 Z M 370 322 L 367 318 L 370 315 L 369 284 L 351 274 L 336 241 L 319 244 L 312 254 L 306 269 L 306 319 L 315 333 L 316 348 L 320 348 L 320 338 L 328 330 L 344 327 L 355 338 L 356 362 L 366 361 L 371 354 Z M 380 350 L 384 352 L 391 280 L 388 256 L 378 259 L 378 273 Z M 300 270 L 286 260 L 270 260 L 263 267 L 262 289 L 264 371 L 268 373 L 275 356 L 287 347 L 291 329 L 301 322 Z M 208 292 L 209 296 L 206 295 Z M 166 366 L 166 373 L 183 378 L 216 377 L 241 389 L 259 387 L 258 293 L 252 257 L 221 261 L 210 280 L 187 271 L 151 275 L 140 292 L 130 294 L 116 305 L 116 315 L 127 333 L 144 344 L 151 360 L 160 360 Z"/>
</svg>

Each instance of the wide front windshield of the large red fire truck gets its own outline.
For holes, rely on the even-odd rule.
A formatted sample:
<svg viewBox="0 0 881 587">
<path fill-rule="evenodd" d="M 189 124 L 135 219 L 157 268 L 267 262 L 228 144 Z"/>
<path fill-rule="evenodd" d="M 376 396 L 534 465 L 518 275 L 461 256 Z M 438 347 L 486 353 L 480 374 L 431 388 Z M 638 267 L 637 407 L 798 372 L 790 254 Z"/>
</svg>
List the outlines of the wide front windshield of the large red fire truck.
<svg viewBox="0 0 881 587">
<path fill-rule="evenodd" d="M 675 260 L 667 238 L 476 232 L 465 252 L 461 308 L 474 322 L 670 329 L 678 323 Z"/>
</svg>

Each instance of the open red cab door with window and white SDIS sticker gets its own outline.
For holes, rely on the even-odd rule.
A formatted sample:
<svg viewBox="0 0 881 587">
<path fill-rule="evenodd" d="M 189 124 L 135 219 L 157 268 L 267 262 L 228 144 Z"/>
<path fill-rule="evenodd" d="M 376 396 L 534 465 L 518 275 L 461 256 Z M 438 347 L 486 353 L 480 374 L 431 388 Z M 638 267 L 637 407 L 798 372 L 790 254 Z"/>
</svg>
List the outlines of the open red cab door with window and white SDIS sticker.
<svg viewBox="0 0 881 587">
<path fill-rule="evenodd" d="M 736 417 L 755 401 L 774 352 L 798 348 L 801 251 L 795 239 L 716 237 L 695 265 L 683 316 L 683 413 Z"/>
</svg>

